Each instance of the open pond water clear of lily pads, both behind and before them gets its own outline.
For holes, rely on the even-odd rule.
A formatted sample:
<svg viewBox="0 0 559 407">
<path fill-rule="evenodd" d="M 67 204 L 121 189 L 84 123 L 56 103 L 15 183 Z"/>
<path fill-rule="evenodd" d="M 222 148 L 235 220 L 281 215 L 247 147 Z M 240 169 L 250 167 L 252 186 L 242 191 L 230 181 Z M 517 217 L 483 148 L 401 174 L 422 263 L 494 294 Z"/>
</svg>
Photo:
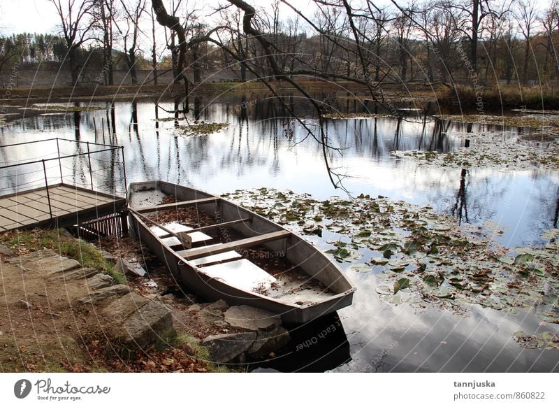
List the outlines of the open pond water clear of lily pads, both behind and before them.
<svg viewBox="0 0 559 407">
<path fill-rule="evenodd" d="M 320 97 L 317 95 L 317 99 Z M 316 128 L 317 120 L 310 106 L 293 97 L 285 100 L 297 113 L 307 113 L 309 118 L 305 124 Z M 307 192 L 317 199 L 344 195 L 341 190 L 335 190 L 328 177 L 321 145 L 308 136 L 301 124 L 289 119 L 277 100 L 228 94 L 215 101 L 199 98 L 190 102 L 195 110 L 189 114 L 190 122 L 196 115 L 200 122 L 224 122 L 229 123 L 228 127 L 208 136 L 184 136 L 175 129 L 171 119 L 172 102 L 159 103 L 159 107 L 147 101 L 116 102 L 109 109 L 25 118 L 0 129 L 1 143 L 60 137 L 123 145 L 129 183 L 161 179 L 215 194 L 265 186 Z M 108 103 L 99 105 L 108 106 Z M 358 106 L 349 101 L 340 102 L 337 108 L 344 112 L 358 110 Z M 186 122 L 180 120 L 179 124 Z M 326 152 L 328 163 L 335 173 L 342 175 L 342 185 L 351 194 L 383 195 L 429 204 L 464 223 L 498 222 L 505 228 L 500 243 L 509 247 L 541 244 L 542 231 L 558 227 L 558 171 L 433 168 L 390 155 L 392 150 L 451 151 L 464 145 L 467 132 L 492 131 L 499 127 L 440 122 L 430 115 L 414 112 L 399 120 L 393 117 L 326 120 L 325 126 L 328 143 L 337 148 Z M 522 130 L 509 128 L 507 131 Z M 92 145 L 92 148 L 99 147 Z M 77 151 L 71 144 L 63 145 L 61 150 L 63 154 Z M 3 165 L 24 156 L 55 157 L 57 146 L 55 143 L 48 147 L 30 144 L 9 153 L 0 149 L 0 154 L 0 165 Z M 91 175 L 96 188 L 124 192 L 124 171 L 122 167 L 111 165 L 119 159 L 114 152 L 104 152 L 94 158 Z M 85 156 L 63 160 L 62 167 L 57 166 L 55 162 L 48 165 L 52 180 L 59 179 L 58 171 L 62 171 L 64 180 L 89 187 L 89 163 Z M 10 170 L 2 174 L 1 192 L 13 190 L 16 181 L 18 185 L 41 185 L 41 168 Z M 315 243 L 326 245 L 319 239 Z M 559 351 L 527 350 L 513 340 L 512 334 L 521 329 L 530 333 L 543 328 L 557 329 L 554 324 L 542 327 L 532 313 L 510 315 L 471 306 L 470 315 L 462 317 L 437 308 L 420 311 L 407 304 L 391 306 L 379 301 L 375 287 L 381 282 L 377 276 L 351 270 L 347 273 L 358 291 L 354 305 L 339 313 L 346 334 L 343 338 L 348 342 L 340 342 L 338 338 L 334 348 L 349 352 L 351 362 L 312 369 L 559 369 Z M 330 320 L 325 323 L 332 324 Z M 321 332 L 324 327 L 308 329 L 301 338 L 312 338 L 314 331 Z M 339 333 L 337 329 L 337 335 Z M 328 352 L 325 359 L 340 359 L 333 354 L 328 357 Z M 291 352 L 293 355 L 296 355 L 295 350 Z M 345 359 L 341 357 L 339 363 Z"/>
</svg>

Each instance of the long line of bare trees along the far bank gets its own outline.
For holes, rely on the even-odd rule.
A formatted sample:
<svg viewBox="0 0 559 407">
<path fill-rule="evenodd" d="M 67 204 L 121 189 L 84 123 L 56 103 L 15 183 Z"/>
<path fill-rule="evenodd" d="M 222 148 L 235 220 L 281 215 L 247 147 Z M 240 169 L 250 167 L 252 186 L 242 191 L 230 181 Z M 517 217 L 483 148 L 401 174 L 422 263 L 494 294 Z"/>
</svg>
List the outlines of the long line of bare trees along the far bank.
<svg viewBox="0 0 559 407">
<path fill-rule="evenodd" d="M 260 78 L 379 83 L 556 83 L 559 3 L 536 0 L 314 0 L 314 8 L 276 0 L 254 8 L 227 0 L 207 11 L 186 0 L 50 0 L 60 33 L 0 38 L 0 73 L 38 62 L 64 64 L 78 81 L 94 66 L 113 69 L 232 69 Z M 163 13 L 164 12 L 164 13 Z M 249 18 L 247 18 L 247 16 Z M 166 19 L 170 20 L 166 20 Z M 95 57 L 92 57 L 92 54 Z"/>
</svg>

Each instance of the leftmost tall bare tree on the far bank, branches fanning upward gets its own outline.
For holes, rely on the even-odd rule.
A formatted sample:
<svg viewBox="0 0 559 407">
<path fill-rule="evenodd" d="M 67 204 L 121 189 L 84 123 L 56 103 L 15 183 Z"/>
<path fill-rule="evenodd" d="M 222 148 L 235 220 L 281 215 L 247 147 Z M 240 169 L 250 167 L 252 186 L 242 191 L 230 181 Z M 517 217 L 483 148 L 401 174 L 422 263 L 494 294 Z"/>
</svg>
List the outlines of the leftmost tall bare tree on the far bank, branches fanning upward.
<svg viewBox="0 0 559 407">
<path fill-rule="evenodd" d="M 87 18 L 91 16 L 94 1 L 90 0 L 50 0 L 57 9 L 60 18 L 61 35 L 66 42 L 66 58 L 65 61 L 70 67 L 72 83 L 78 82 L 80 66 L 78 66 L 76 58 L 80 46 L 92 39 L 89 37 L 93 24 L 87 22 Z"/>
</svg>

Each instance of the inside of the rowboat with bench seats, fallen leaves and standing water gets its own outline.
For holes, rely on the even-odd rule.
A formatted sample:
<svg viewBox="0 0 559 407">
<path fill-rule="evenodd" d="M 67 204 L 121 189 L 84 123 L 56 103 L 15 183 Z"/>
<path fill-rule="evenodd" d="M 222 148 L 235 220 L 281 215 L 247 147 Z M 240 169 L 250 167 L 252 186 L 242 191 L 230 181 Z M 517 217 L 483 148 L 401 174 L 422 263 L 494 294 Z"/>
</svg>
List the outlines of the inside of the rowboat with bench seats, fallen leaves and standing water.
<svg viewBox="0 0 559 407">
<path fill-rule="evenodd" d="M 133 190 L 129 206 L 191 266 L 241 290 L 300 306 L 351 289 L 309 243 L 219 197 L 158 185 Z"/>
</svg>

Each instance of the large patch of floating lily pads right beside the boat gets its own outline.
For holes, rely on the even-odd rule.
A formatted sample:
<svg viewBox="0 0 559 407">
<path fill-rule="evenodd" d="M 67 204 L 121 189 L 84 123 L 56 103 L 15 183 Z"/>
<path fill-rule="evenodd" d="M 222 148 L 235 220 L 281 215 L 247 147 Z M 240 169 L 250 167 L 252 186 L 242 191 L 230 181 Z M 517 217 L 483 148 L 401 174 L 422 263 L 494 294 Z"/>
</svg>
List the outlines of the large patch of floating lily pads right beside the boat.
<svg viewBox="0 0 559 407">
<path fill-rule="evenodd" d="M 504 248 L 495 222 L 460 227 L 430 206 L 382 196 L 319 201 L 260 188 L 224 197 L 296 233 L 322 236 L 337 262 L 386 281 L 376 288 L 386 303 L 436 304 L 462 315 L 465 304 L 507 313 L 529 308 L 542 324 L 559 324 L 559 229 L 542 235 L 549 240 L 543 248 Z"/>
</svg>

